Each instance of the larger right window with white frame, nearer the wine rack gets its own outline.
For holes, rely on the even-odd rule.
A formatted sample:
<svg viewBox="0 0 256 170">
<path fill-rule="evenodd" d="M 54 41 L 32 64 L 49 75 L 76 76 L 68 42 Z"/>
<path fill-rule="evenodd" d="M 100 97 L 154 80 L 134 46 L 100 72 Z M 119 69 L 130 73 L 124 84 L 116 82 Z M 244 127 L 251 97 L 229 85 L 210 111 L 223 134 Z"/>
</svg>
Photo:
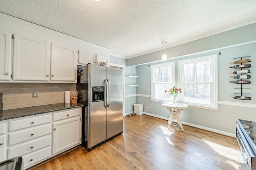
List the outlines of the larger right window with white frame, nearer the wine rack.
<svg viewBox="0 0 256 170">
<path fill-rule="evenodd" d="M 218 107 L 217 55 L 178 61 L 181 102 Z"/>
</svg>

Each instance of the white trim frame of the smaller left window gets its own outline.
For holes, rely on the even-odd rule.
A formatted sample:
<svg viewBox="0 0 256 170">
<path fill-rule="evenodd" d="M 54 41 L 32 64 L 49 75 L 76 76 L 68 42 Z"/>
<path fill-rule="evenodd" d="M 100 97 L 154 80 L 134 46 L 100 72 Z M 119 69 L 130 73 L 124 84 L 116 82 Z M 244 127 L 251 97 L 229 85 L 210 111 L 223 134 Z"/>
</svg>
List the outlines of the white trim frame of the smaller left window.
<svg viewBox="0 0 256 170">
<path fill-rule="evenodd" d="M 172 66 L 172 83 L 175 84 L 175 61 L 150 65 L 150 101 L 151 102 L 170 102 L 171 100 L 161 100 L 154 98 L 154 68 L 164 67 L 164 66 Z M 174 85 L 173 85 L 174 86 Z M 171 88 L 171 87 L 170 87 Z M 167 90 L 167 89 L 166 89 Z"/>
</svg>

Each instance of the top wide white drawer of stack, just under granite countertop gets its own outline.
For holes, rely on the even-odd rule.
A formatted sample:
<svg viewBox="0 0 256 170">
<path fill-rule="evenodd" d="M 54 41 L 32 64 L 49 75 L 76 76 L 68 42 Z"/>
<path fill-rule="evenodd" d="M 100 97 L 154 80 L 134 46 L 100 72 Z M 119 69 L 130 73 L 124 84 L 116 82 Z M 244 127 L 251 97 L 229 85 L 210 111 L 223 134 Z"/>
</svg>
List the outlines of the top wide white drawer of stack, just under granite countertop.
<svg viewBox="0 0 256 170">
<path fill-rule="evenodd" d="M 44 123 L 51 122 L 51 115 L 44 115 L 38 117 L 31 117 L 28 119 L 10 121 L 9 123 L 9 131 L 14 131 L 26 127 L 33 127 L 36 125 L 41 125 Z"/>
</svg>

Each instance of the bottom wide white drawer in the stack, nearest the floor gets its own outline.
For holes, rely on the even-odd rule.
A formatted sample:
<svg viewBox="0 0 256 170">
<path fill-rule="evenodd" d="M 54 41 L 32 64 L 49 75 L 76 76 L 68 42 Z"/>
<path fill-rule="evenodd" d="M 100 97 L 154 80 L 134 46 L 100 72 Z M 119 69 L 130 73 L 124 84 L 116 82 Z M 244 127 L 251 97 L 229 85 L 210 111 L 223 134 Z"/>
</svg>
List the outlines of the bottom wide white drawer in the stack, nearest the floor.
<svg viewBox="0 0 256 170">
<path fill-rule="evenodd" d="M 47 148 L 32 152 L 31 154 L 22 156 L 23 161 L 24 161 L 24 168 L 26 168 L 26 166 L 34 164 L 40 160 L 50 157 L 50 154 L 51 154 L 51 148 L 49 146 Z"/>
</svg>

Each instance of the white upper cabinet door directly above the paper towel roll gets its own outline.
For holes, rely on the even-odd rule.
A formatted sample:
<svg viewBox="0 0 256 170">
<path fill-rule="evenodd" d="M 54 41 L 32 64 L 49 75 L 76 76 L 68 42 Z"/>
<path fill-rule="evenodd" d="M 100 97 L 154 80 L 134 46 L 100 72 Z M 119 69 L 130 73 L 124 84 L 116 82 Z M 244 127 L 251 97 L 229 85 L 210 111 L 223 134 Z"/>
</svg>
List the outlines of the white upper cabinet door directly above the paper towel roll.
<svg viewBox="0 0 256 170">
<path fill-rule="evenodd" d="M 52 81 L 76 81 L 76 49 L 52 44 Z"/>
</svg>

